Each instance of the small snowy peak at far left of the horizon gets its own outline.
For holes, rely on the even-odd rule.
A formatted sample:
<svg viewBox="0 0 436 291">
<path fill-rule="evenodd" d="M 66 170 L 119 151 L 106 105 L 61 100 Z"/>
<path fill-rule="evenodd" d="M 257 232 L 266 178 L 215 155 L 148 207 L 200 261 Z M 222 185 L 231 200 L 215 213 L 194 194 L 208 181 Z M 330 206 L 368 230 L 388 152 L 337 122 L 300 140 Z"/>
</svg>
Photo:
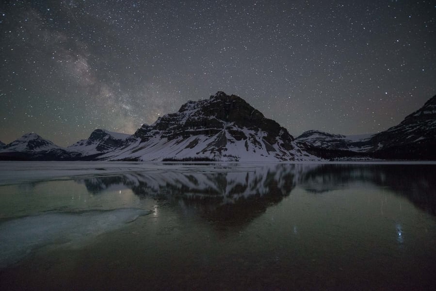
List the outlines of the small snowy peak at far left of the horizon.
<svg viewBox="0 0 436 291">
<path fill-rule="evenodd" d="M 36 133 L 26 133 L 0 150 L 0 160 L 53 161 L 69 159 L 74 159 L 74 155 Z"/>
</svg>

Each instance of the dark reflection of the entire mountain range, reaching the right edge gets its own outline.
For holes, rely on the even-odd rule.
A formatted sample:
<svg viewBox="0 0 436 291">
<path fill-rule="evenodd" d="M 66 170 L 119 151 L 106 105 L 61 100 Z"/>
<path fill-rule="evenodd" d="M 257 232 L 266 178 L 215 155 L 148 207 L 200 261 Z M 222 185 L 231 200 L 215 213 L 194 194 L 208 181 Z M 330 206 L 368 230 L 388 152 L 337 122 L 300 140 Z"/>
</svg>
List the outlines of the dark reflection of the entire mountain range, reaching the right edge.
<svg viewBox="0 0 436 291">
<path fill-rule="evenodd" d="M 93 194 L 128 187 L 140 197 L 153 197 L 209 220 L 232 224 L 250 221 L 297 186 L 325 194 L 356 183 L 370 183 L 405 196 L 420 209 L 436 215 L 434 165 L 265 164 L 219 170 L 204 171 L 199 167 L 187 172 L 129 173 L 79 182 Z"/>
</svg>

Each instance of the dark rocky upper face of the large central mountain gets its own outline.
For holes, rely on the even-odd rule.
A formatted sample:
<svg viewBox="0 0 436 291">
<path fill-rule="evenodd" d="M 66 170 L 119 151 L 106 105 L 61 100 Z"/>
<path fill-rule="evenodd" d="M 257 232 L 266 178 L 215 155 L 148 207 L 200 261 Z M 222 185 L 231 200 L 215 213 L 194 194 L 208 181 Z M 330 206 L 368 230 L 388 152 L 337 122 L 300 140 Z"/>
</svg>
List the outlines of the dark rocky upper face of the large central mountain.
<svg viewBox="0 0 436 291">
<path fill-rule="evenodd" d="M 263 139 L 267 146 L 275 145 L 279 138 L 282 141 L 280 146 L 287 150 L 293 148 L 291 142 L 294 138 L 287 129 L 274 120 L 265 118 L 241 97 L 226 95 L 224 92 L 218 92 L 207 100 L 188 101 L 177 113 L 159 117 L 152 126 L 143 125 L 134 136 L 145 142 L 159 134 L 162 138 L 171 140 L 199 134 L 211 137 L 226 130 L 235 140 L 250 141 L 241 129 L 260 129 L 266 132 Z M 225 136 L 221 134 L 216 146 L 221 148 L 225 144 Z"/>
</svg>

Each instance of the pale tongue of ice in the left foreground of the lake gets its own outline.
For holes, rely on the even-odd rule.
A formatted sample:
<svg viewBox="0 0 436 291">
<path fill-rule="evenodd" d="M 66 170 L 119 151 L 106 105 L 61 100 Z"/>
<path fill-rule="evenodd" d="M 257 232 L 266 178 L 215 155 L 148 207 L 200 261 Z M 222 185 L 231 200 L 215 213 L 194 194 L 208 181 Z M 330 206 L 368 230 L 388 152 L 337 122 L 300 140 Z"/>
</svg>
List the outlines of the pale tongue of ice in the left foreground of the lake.
<svg viewBox="0 0 436 291">
<path fill-rule="evenodd" d="M 0 224 L 0 268 L 49 244 L 80 245 L 150 212 L 136 208 L 47 212 L 6 221 Z"/>
</svg>

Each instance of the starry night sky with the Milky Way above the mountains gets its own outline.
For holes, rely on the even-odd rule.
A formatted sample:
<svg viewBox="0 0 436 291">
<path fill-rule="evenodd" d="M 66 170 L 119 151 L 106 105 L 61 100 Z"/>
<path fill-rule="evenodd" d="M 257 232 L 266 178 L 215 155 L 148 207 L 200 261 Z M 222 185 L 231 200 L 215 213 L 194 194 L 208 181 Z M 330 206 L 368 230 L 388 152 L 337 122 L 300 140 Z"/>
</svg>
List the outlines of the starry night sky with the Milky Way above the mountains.
<svg viewBox="0 0 436 291">
<path fill-rule="evenodd" d="M 217 91 L 293 136 L 375 133 L 436 94 L 436 3 L 2 0 L 0 55 L 3 143 L 133 133 Z"/>
</svg>

